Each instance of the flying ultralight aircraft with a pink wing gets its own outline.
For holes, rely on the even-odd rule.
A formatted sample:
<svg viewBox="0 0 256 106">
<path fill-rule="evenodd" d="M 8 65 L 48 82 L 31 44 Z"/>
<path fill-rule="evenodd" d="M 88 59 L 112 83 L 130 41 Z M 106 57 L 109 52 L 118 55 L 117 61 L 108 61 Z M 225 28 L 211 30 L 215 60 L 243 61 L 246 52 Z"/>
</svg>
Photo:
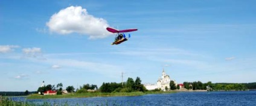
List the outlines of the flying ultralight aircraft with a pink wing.
<svg viewBox="0 0 256 106">
<path fill-rule="evenodd" d="M 127 41 L 128 38 L 130 38 L 130 34 L 129 34 L 129 37 L 126 38 L 126 35 L 124 34 L 119 34 L 119 33 L 124 33 L 124 32 L 132 32 L 132 31 L 137 31 L 138 29 L 124 29 L 124 30 L 117 30 L 117 29 L 114 29 L 114 28 L 107 28 L 107 31 L 109 32 L 112 32 L 112 33 L 117 33 L 117 37 L 115 38 L 115 41 L 114 43 L 112 43 L 112 45 L 117 45 L 117 44 L 120 44 L 120 43 L 123 43 L 124 41 Z"/>
</svg>

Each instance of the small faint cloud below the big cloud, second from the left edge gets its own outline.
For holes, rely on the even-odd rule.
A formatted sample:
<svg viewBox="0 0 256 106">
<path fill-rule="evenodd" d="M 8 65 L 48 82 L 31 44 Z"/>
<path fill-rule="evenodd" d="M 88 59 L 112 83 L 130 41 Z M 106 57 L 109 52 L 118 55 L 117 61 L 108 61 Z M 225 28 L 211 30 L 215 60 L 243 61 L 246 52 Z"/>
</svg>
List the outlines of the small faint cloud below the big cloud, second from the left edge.
<svg viewBox="0 0 256 106">
<path fill-rule="evenodd" d="M 22 52 L 28 57 L 42 56 L 41 49 L 37 47 L 22 49 Z"/>
</svg>

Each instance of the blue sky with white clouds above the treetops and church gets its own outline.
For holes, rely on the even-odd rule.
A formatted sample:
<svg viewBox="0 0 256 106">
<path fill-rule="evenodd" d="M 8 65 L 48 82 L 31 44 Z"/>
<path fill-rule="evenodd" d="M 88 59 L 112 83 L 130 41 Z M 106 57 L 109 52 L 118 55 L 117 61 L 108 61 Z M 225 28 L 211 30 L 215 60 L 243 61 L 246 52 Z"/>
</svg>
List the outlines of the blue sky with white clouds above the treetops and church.
<svg viewBox="0 0 256 106">
<path fill-rule="evenodd" d="M 0 1 L 0 91 L 256 81 L 255 1 Z M 138 28 L 111 46 L 106 31 Z"/>
</svg>

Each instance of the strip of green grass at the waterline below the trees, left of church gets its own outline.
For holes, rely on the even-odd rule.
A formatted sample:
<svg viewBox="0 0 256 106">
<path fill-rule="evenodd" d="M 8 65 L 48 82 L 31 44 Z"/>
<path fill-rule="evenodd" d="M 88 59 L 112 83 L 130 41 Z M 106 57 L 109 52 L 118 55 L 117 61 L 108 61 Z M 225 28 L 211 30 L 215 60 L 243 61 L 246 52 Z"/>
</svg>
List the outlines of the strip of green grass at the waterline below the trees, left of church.
<svg viewBox="0 0 256 106">
<path fill-rule="evenodd" d="M 158 93 L 174 93 L 174 92 L 115 92 L 115 93 L 101 93 L 101 92 L 88 92 L 88 93 L 74 93 L 66 95 L 29 95 L 27 99 L 51 99 L 51 98 L 87 98 L 87 97 L 107 97 L 107 96 L 141 96 L 147 94 Z"/>
</svg>

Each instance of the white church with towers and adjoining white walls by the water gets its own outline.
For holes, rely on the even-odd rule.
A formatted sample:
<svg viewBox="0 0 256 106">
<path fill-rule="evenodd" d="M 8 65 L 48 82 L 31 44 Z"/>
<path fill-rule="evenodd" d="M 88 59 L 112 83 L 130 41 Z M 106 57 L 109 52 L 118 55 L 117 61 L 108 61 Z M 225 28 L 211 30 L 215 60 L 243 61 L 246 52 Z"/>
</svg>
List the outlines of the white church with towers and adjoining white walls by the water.
<svg viewBox="0 0 256 106">
<path fill-rule="evenodd" d="M 161 90 L 165 91 L 165 87 L 170 89 L 170 81 L 171 81 L 170 76 L 167 75 L 163 69 L 162 76 L 158 78 L 158 81 L 156 84 L 144 84 L 144 86 L 146 87 L 147 90 L 161 89 Z M 176 81 L 175 80 L 173 80 L 173 81 L 177 86 Z"/>
</svg>

